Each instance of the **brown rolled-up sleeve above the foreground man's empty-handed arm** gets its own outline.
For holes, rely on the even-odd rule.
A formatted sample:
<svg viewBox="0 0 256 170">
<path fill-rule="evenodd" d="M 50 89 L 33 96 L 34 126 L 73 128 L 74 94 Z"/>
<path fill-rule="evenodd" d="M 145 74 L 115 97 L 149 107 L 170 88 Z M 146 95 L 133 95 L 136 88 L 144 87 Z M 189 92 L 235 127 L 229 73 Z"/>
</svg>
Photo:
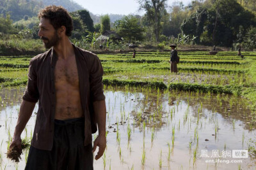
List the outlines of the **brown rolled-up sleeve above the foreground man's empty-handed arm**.
<svg viewBox="0 0 256 170">
<path fill-rule="evenodd" d="M 92 67 L 90 69 L 90 96 L 93 101 L 101 101 L 105 99 L 103 93 L 103 68 L 97 55 L 91 57 Z"/>
</svg>

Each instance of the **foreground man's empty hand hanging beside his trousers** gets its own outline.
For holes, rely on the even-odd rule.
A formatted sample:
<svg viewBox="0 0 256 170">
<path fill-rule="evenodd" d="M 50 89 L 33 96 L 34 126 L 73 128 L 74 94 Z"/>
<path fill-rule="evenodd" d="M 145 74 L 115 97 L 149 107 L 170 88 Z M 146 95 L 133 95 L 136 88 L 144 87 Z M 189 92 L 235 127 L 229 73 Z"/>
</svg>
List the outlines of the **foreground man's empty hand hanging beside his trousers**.
<svg viewBox="0 0 256 170">
<path fill-rule="evenodd" d="M 99 146 L 99 152 L 95 156 L 96 160 L 98 160 L 103 155 L 106 145 L 107 145 L 106 134 L 97 136 L 97 138 L 93 143 L 93 150 L 92 150 L 92 152 L 95 152 L 96 147 Z"/>
</svg>

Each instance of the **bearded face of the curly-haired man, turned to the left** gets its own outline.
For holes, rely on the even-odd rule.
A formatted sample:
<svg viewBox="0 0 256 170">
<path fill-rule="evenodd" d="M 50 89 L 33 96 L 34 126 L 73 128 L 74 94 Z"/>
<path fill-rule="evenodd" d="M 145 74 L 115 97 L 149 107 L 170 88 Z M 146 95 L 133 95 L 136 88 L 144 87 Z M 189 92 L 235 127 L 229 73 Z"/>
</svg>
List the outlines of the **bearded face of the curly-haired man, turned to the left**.
<svg viewBox="0 0 256 170">
<path fill-rule="evenodd" d="M 44 41 L 45 48 L 51 48 L 58 45 L 60 38 L 57 30 L 51 25 L 47 18 L 40 18 L 38 36 Z"/>
</svg>

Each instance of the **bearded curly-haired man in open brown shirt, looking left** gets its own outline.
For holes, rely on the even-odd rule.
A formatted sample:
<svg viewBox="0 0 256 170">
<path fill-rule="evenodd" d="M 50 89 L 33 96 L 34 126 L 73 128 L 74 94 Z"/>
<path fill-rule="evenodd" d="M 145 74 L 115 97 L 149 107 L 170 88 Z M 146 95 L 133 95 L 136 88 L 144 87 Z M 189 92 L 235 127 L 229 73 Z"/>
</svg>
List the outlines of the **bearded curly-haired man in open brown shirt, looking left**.
<svg viewBox="0 0 256 170">
<path fill-rule="evenodd" d="M 68 39 L 72 18 L 61 6 L 38 14 L 38 36 L 49 51 L 29 63 L 28 86 L 10 147 L 20 148 L 36 102 L 38 112 L 26 169 L 93 169 L 106 148 L 106 104 L 103 69 L 97 55 L 77 48 Z M 92 133 L 99 129 L 92 149 Z"/>
</svg>

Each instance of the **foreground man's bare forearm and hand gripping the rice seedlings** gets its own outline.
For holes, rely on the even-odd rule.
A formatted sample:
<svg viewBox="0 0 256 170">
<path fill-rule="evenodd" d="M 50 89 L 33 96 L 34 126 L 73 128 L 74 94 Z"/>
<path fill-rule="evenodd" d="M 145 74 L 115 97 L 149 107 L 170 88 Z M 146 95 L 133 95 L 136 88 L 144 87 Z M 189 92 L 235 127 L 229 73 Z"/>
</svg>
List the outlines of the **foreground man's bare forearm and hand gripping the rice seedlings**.
<svg viewBox="0 0 256 170">
<path fill-rule="evenodd" d="M 12 138 L 12 143 L 10 147 L 17 146 L 21 149 L 21 138 L 20 135 L 24 130 L 26 124 L 28 123 L 29 118 L 31 117 L 36 103 L 31 103 L 29 101 L 22 101 L 20 104 L 19 117 L 17 125 L 15 127 L 14 135 Z"/>
</svg>

